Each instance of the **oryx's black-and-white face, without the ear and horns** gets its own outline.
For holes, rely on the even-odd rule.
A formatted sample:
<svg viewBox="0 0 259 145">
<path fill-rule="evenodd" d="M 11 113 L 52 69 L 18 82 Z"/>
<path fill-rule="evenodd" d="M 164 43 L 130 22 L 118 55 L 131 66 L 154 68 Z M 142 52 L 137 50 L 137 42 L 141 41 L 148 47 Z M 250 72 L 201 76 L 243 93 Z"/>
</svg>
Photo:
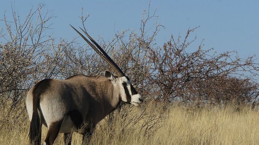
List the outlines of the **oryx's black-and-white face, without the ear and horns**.
<svg viewBox="0 0 259 145">
<path fill-rule="evenodd" d="M 128 104 L 133 104 L 138 106 L 138 103 L 142 103 L 143 99 L 141 98 L 140 94 L 136 91 L 136 89 L 130 83 L 128 77 L 120 77 L 120 94 L 121 100 Z"/>
</svg>

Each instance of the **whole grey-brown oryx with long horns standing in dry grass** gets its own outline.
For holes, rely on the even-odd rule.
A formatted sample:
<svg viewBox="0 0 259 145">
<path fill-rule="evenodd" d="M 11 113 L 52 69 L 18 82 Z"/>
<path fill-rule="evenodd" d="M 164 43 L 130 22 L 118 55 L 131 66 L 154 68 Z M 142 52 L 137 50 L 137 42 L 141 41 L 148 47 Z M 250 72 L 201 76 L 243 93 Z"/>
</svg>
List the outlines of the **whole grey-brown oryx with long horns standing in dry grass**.
<svg viewBox="0 0 259 145">
<path fill-rule="evenodd" d="M 71 132 L 79 129 L 79 133 L 83 134 L 83 143 L 88 144 L 96 124 L 115 110 L 120 101 L 136 106 L 143 102 L 129 78 L 104 50 L 83 29 L 80 28 L 93 44 L 71 27 L 109 64 L 117 76 L 105 70 L 104 76 L 80 74 L 65 80 L 44 79 L 36 83 L 26 98 L 31 122 L 31 144 L 40 144 L 42 124 L 48 128 L 43 144 L 53 144 L 58 133 L 64 133 L 65 144 L 71 144 Z"/>
</svg>

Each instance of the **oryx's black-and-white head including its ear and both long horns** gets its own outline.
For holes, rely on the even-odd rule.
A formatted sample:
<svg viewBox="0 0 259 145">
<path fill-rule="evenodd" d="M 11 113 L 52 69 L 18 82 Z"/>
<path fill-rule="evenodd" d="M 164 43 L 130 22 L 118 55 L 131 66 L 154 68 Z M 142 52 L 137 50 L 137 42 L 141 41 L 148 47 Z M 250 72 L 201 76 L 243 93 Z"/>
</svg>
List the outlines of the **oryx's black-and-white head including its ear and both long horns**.
<svg viewBox="0 0 259 145">
<path fill-rule="evenodd" d="M 70 25 L 71 26 L 71 25 Z M 138 106 L 139 103 L 143 102 L 140 94 L 136 91 L 135 87 L 132 86 L 129 77 L 127 77 L 122 70 L 118 67 L 116 63 L 106 54 L 106 52 L 97 44 L 87 33 L 85 30 L 80 28 L 85 35 L 97 46 L 97 49 L 94 44 L 92 44 L 89 40 L 87 40 L 84 35 L 82 35 L 78 30 L 76 30 L 73 26 L 71 26 L 100 56 L 101 58 L 109 64 L 109 66 L 113 69 L 117 76 L 114 76 L 111 72 L 105 70 L 104 77 L 108 78 L 114 88 L 119 89 L 119 96 L 121 97 L 121 101 L 134 104 Z"/>
</svg>

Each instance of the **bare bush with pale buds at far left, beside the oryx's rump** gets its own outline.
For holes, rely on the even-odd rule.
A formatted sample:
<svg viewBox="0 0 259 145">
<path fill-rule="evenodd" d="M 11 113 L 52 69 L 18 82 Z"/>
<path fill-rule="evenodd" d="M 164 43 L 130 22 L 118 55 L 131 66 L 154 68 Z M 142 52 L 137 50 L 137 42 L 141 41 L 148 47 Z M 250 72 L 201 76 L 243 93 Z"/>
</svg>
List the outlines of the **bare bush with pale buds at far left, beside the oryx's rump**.
<svg viewBox="0 0 259 145">
<path fill-rule="evenodd" d="M 32 84 L 42 79 L 43 55 L 52 42 L 50 36 L 42 35 L 49 29 L 51 11 L 41 13 L 44 5 L 30 10 L 25 20 L 13 11 L 13 22 L 4 15 L 7 34 L 1 31 L 0 38 L 6 43 L 0 48 L 0 101 L 16 107 L 26 96 Z M 37 15 L 36 18 L 34 17 Z"/>
</svg>

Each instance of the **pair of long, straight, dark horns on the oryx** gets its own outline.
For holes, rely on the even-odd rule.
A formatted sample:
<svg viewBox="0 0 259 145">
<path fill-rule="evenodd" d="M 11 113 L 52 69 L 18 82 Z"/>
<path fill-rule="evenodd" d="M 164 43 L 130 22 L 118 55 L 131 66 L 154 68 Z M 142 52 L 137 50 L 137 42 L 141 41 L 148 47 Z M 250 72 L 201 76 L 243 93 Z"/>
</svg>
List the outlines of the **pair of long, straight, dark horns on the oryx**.
<svg viewBox="0 0 259 145">
<path fill-rule="evenodd" d="M 70 24 L 69 24 L 70 25 Z M 71 26 L 71 25 L 70 25 Z M 118 67 L 116 63 L 108 56 L 108 54 L 105 53 L 105 51 L 84 31 L 84 33 L 89 37 L 89 39 L 98 47 L 98 49 L 102 52 L 100 52 L 89 40 L 87 40 L 84 35 L 82 35 L 78 30 L 76 30 L 73 26 L 71 26 L 99 55 L 101 58 L 106 61 L 106 63 L 109 64 L 109 66 L 113 69 L 113 71 L 119 76 L 123 77 L 124 73 L 122 70 Z M 80 28 L 81 29 L 81 28 Z"/>
</svg>

